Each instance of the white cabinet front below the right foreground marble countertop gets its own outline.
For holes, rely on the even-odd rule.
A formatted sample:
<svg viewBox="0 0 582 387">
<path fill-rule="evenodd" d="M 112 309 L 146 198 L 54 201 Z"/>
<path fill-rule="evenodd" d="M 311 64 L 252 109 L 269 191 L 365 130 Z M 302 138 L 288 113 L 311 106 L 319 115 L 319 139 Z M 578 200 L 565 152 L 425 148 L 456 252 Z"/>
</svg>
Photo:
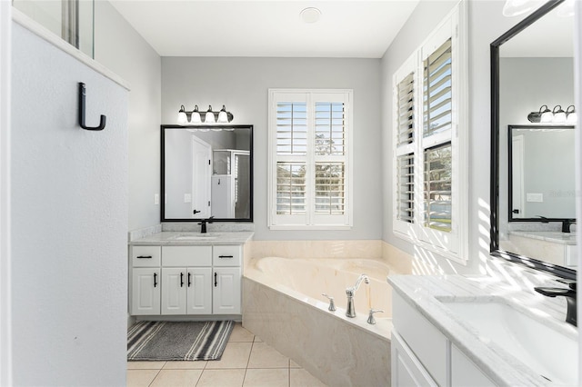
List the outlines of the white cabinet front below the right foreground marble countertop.
<svg viewBox="0 0 582 387">
<path fill-rule="evenodd" d="M 392 385 L 494 386 L 437 327 L 396 292 L 393 297 Z"/>
</svg>

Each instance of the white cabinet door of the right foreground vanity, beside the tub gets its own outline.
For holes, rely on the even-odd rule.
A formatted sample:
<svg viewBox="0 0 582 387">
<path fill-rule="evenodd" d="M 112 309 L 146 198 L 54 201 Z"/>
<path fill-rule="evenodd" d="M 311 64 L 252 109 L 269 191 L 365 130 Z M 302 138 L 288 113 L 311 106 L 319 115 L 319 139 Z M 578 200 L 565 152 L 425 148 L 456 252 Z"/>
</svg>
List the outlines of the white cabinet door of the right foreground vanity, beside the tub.
<svg viewBox="0 0 582 387">
<path fill-rule="evenodd" d="M 398 387 L 430 386 L 435 382 L 415 354 L 396 332 L 392 332 L 392 385 Z"/>
</svg>

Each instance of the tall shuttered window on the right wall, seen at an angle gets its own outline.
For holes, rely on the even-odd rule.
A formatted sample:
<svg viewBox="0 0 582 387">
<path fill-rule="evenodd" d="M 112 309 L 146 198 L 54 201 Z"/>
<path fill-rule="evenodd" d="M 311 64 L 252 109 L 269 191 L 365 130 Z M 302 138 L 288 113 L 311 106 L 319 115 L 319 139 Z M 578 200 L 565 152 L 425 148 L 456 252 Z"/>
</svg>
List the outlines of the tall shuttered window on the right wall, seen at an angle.
<svg viewBox="0 0 582 387">
<path fill-rule="evenodd" d="M 396 71 L 394 232 L 458 262 L 467 251 L 464 5 Z"/>
</svg>

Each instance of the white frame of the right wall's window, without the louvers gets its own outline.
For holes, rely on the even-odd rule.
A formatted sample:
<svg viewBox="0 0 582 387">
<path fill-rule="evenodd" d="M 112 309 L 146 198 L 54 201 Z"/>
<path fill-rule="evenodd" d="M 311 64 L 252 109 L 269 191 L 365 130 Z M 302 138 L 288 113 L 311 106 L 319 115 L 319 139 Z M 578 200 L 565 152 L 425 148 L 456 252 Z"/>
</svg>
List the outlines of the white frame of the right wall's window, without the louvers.
<svg viewBox="0 0 582 387">
<path fill-rule="evenodd" d="M 468 251 L 468 61 L 467 61 L 467 5 L 460 2 L 437 26 L 422 45 L 400 66 L 393 75 L 393 232 L 397 237 L 438 253 L 457 263 L 467 264 Z M 440 45 L 451 38 L 452 51 L 452 127 L 450 130 L 423 137 L 423 77 L 424 60 Z M 397 145 L 397 85 L 406 75 L 415 73 L 415 136 L 412 144 Z M 450 232 L 443 232 L 424 225 L 424 151 L 439 144 L 452 147 L 452 213 Z M 415 154 L 414 222 L 397 219 L 397 157 Z"/>
</svg>

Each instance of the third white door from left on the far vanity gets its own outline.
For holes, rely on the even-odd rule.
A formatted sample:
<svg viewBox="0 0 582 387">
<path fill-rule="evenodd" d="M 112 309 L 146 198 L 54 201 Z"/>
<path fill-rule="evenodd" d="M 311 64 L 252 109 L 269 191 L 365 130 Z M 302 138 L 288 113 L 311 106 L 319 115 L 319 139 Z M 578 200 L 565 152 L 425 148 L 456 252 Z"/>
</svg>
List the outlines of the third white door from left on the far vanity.
<svg viewBox="0 0 582 387">
<path fill-rule="evenodd" d="M 187 270 L 187 314 L 212 314 L 212 268 Z"/>
</svg>

